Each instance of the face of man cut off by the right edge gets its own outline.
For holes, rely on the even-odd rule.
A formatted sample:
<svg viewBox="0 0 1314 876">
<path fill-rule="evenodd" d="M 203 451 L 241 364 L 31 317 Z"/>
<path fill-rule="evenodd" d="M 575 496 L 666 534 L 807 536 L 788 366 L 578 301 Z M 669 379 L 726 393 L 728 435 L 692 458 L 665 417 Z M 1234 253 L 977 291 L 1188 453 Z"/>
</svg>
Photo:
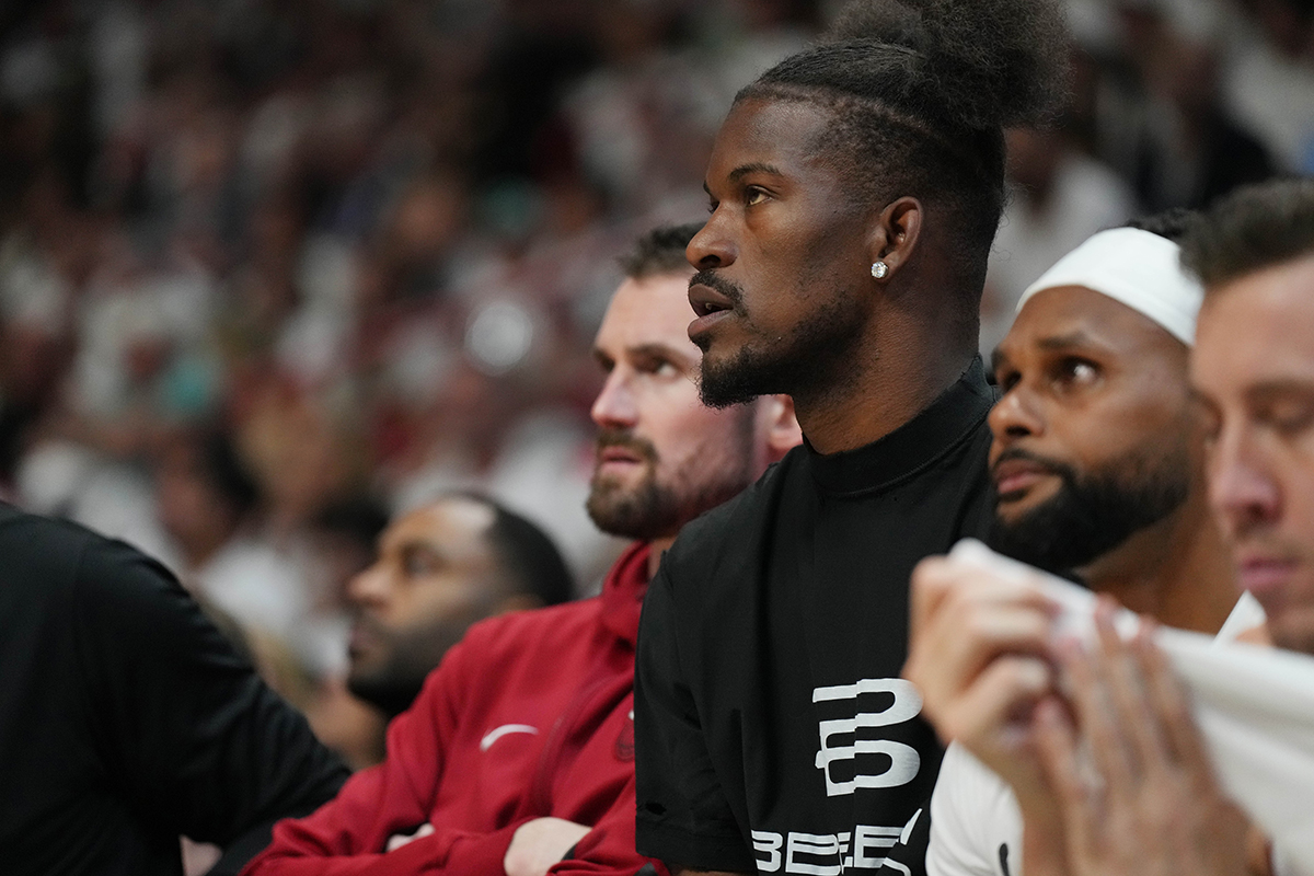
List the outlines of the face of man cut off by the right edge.
<svg viewBox="0 0 1314 876">
<path fill-rule="evenodd" d="M 1196 343 L 1210 503 L 1239 584 L 1275 642 L 1314 653 L 1314 259 L 1217 292 Z"/>
</svg>

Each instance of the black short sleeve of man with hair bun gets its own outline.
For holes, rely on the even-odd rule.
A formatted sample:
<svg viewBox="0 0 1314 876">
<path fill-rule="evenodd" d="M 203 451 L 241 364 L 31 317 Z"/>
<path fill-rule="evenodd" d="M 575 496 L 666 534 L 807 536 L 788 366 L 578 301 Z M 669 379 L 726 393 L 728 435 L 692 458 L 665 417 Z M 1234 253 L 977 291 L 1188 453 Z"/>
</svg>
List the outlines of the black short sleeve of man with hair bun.
<svg viewBox="0 0 1314 876">
<path fill-rule="evenodd" d="M 691 869 L 756 872 L 685 680 L 668 561 L 648 587 L 635 657 L 639 852 Z"/>
</svg>

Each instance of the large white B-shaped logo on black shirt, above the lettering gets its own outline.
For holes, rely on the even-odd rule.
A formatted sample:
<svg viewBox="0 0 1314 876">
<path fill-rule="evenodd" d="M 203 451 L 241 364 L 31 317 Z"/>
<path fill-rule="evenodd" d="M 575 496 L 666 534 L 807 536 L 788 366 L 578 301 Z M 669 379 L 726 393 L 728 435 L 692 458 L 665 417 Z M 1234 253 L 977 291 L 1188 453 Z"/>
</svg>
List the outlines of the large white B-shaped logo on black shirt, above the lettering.
<svg viewBox="0 0 1314 876">
<path fill-rule="evenodd" d="M 816 768 L 828 797 L 858 788 L 895 788 L 917 777 L 921 755 L 903 742 L 882 738 L 880 728 L 904 724 L 921 712 L 921 693 L 901 678 L 863 679 L 812 691 L 820 714 Z"/>
</svg>

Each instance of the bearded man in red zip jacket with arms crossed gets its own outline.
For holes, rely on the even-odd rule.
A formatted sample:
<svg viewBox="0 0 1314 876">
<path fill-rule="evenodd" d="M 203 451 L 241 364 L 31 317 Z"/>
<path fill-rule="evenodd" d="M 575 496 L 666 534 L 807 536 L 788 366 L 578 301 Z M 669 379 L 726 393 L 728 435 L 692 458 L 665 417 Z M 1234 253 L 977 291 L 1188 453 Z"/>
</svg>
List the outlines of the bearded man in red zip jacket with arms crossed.
<svg viewBox="0 0 1314 876">
<path fill-rule="evenodd" d="M 679 528 L 799 443 L 792 405 L 716 410 L 689 340 L 700 226 L 657 229 L 623 260 L 594 344 L 589 512 L 635 538 L 602 595 L 473 626 L 388 729 L 388 759 L 309 818 L 284 821 L 243 876 L 633 875 L 633 667 L 639 612 Z"/>
</svg>

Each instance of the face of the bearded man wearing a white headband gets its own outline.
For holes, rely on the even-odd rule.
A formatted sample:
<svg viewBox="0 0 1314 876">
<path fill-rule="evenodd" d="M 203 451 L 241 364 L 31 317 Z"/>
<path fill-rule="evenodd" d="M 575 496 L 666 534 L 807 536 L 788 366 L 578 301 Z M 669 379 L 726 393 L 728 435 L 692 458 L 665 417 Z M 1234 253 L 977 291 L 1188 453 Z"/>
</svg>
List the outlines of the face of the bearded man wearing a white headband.
<svg viewBox="0 0 1314 876">
<path fill-rule="evenodd" d="M 1187 348 L 1150 319 L 1089 289 L 1047 290 L 1000 344 L 996 377 L 997 549 L 1079 569 L 1185 500 Z"/>
</svg>

